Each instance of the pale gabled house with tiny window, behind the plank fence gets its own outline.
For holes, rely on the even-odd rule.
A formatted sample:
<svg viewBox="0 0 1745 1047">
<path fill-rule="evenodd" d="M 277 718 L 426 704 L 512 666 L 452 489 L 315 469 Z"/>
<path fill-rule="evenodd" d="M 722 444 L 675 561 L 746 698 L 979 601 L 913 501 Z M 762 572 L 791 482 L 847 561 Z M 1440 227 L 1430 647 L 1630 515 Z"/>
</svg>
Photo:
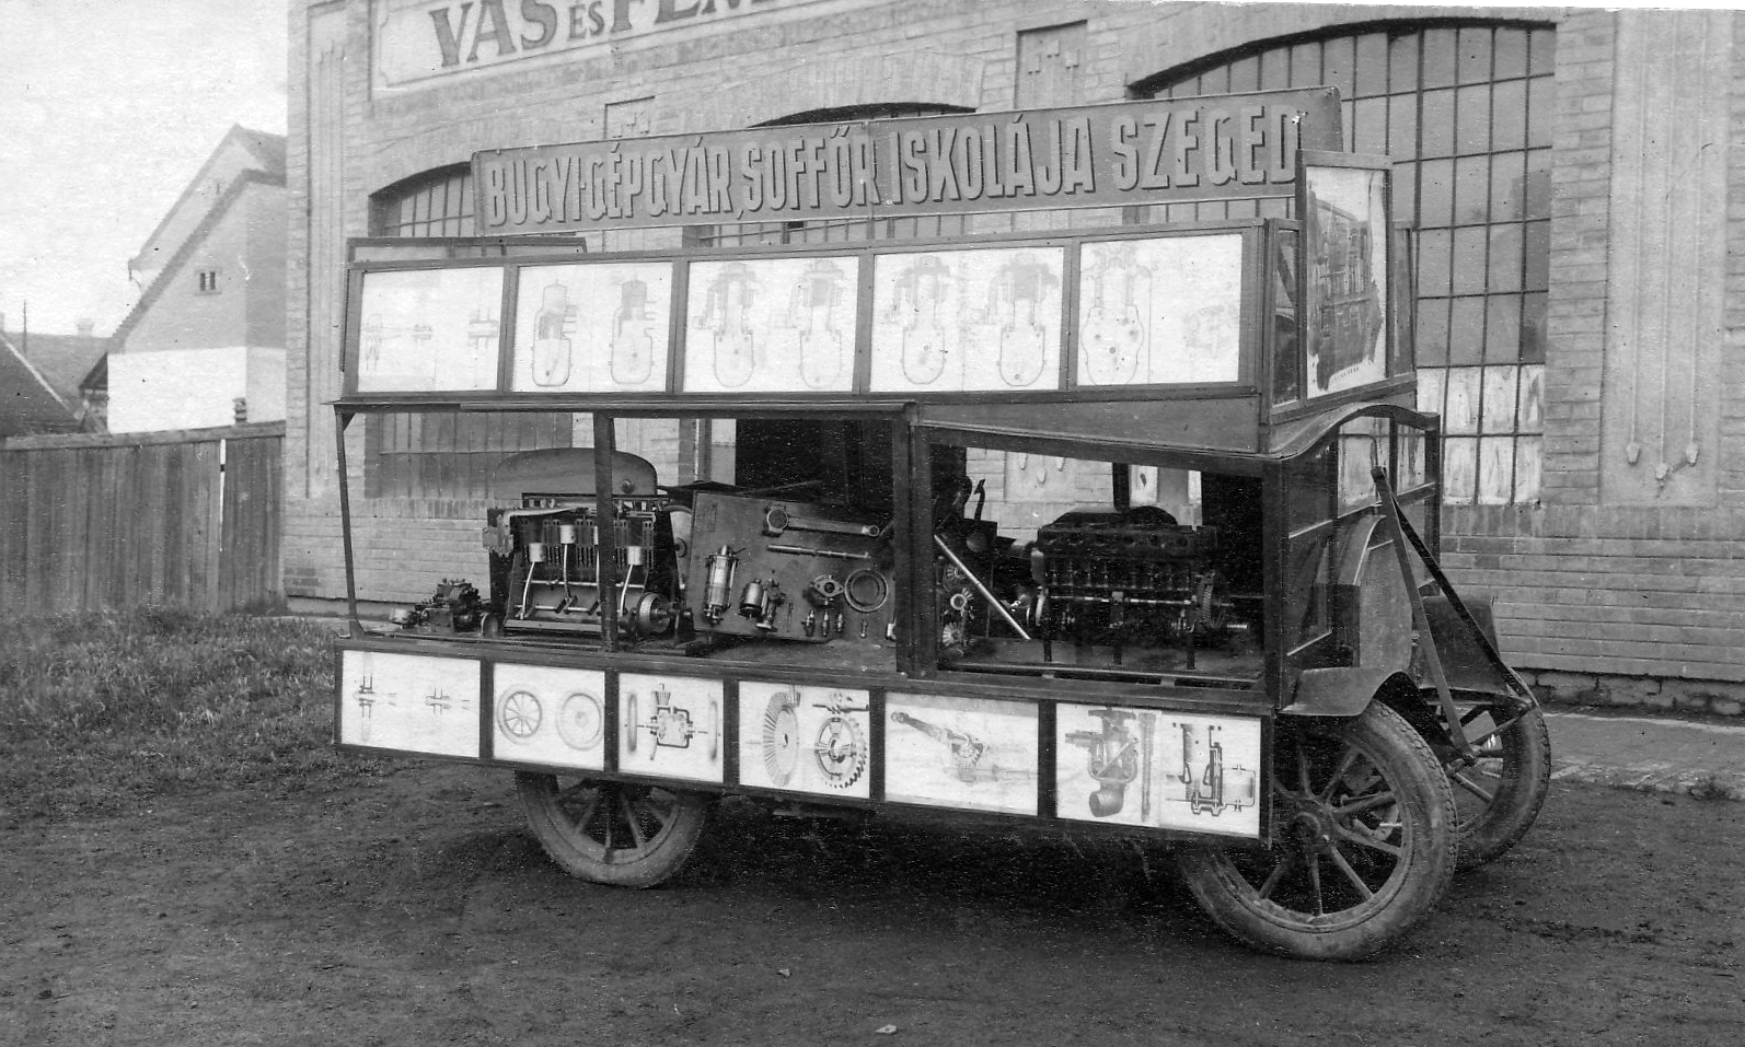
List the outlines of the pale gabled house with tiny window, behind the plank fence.
<svg viewBox="0 0 1745 1047">
<path fill-rule="evenodd" d="M 283 419 L 284 258 L 284 136 L 234 126 L 129 260 L 140 300 L 91 372 L 110 431 Z"/>
</svg>

